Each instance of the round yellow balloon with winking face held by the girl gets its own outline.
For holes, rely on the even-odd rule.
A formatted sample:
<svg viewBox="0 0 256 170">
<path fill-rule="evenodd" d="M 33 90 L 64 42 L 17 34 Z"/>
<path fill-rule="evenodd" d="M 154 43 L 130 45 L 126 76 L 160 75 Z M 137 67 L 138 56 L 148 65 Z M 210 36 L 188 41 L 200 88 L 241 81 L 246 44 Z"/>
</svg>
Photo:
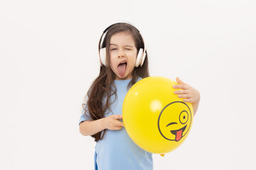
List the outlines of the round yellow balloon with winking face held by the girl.
<svg viewBox="0 0 256 170">
<path fill-rule="evenodd" d="M 175 81 L 147 77 L 138 81 L 124 98 L 122 117 L 129 137 L 142 149 L 166 154 L 188 136 L 193 122 L 191 103 L 174 91 Z"/>
</svg>

